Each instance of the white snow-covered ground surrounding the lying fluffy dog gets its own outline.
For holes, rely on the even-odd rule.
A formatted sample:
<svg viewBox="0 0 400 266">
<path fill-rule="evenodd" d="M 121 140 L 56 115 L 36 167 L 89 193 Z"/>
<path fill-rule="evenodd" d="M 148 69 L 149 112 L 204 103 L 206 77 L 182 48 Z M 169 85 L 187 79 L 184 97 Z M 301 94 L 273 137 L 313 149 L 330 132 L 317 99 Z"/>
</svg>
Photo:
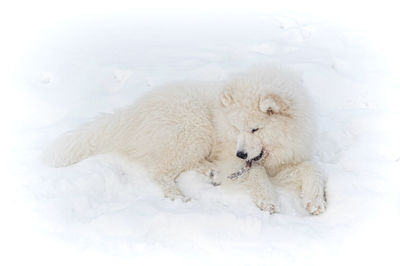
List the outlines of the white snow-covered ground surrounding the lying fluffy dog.
<svg viewBox="0 0 400 266">
<path fill-rule="evenodd" d="M 4 265 L 398 263 L 399 113 L 387 96 L 399 83 L 366 32 L 209 14 L 102 17 L 39 35 L 3 97 L 12 125 L 2 133 Z M 301 70 L 316 104 L 315 159 L 328 179 L 321 216 L 282 189 L 281 213 L 268 215 L 193 172 L 179 180 L 192 200 L 172 202 L 145 169 L 112 154 L 59 169 L 40 162 L 51 139 L 158 84 L 266 62 Z"/>
</svg>

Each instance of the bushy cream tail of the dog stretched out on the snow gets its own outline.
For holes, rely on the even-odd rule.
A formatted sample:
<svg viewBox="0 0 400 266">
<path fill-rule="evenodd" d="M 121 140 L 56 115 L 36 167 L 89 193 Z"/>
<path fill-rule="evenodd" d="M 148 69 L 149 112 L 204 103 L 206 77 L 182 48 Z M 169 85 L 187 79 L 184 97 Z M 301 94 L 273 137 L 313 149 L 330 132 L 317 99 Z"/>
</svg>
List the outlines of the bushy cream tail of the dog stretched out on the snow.
<svg viewBox="0 0 400 266">
<path fill-rule="evenodd" d="M 106 114 L 56 139 L 43 153 L 49 166 L 64 167 L 89 156 L 118 150 L 129 121 Z"/>
</svg>

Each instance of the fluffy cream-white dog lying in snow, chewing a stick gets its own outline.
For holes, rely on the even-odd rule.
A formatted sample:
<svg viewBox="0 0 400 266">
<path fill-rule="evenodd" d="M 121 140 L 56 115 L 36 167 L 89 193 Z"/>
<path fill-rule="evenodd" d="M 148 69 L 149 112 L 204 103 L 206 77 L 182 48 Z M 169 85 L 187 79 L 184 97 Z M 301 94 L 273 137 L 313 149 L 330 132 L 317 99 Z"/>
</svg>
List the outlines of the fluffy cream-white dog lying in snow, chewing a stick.
<svg viewBox="0 0 400 266">
<path fill-rule="evenodd" d="M 175 181 L 188 170 L 214 183 L 239 182 L 255 204 L 279 210 L 272 183 L 299 191 L 311 214 L 325 210 L 311 162 L 312 110 L 301 79 L 278 67 L 253 68 L 223 84 L 176 83 L 131 107 L 66 133 L 45 152 L 52 166 L 120 152 L 143 164 L 165 196 L 186 200 Z M 238 181 L 227 177 L 248 165 Z M 250 167 L 251 165 L 251 167 Z"/>
</svg>

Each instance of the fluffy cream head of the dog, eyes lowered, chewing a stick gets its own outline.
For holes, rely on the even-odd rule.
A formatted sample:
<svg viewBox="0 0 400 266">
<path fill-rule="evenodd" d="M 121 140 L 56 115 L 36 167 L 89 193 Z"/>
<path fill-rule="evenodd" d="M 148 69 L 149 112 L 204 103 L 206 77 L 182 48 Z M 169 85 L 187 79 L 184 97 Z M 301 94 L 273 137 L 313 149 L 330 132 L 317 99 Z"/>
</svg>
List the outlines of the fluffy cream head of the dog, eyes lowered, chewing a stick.
<svg viewBox="0 0 400 266">
<path fill-rule="evenodd" d="M 236 156 L 243 160 L 256 161 L 297 134 L 295 120 L 301 114 L 295 98 L 299 97 L 291 93 L 297 84 L 279 78 L 242 76 L 228 83 L 220 95 L 230 135 L 236 138 Z"/>
</svg>

